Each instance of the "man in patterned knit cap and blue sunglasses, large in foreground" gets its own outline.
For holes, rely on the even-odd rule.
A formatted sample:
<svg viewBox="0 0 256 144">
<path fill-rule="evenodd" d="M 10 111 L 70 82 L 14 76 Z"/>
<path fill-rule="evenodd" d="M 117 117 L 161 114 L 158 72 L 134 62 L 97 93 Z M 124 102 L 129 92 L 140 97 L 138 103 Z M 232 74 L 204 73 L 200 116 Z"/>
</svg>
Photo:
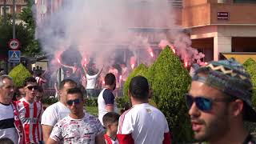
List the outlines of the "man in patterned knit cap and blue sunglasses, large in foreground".
<svg viewBox="0 0 256 144">
<path fill-rule="evenodd" d="M 234 58 L 195 70 L 186 105 L 199 142 L 256 143 L 244 121 L 256 122 L 250 75 Z"/>
</svg>

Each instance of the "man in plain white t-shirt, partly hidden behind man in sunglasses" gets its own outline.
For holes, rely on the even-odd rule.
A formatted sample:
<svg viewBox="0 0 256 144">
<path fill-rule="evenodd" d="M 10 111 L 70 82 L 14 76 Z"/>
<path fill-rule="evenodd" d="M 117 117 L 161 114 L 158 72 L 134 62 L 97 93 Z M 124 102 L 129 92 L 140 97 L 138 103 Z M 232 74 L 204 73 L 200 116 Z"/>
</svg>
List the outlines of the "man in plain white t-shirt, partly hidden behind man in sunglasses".
<svg viewBox="0 0 256 144">
<path fill-rule="evenodd" d="M 43 140 L 47 142 L 50 132 L 54 125 L 70 114 L 70 109 L 66 107 L 66 94 L 67 90 L 77 86 L 77 83 L 72 79 L 64 79 L 59 85 L 59 102 L 48 106 L 42 114 L 42 132 Z"/>
</svg>

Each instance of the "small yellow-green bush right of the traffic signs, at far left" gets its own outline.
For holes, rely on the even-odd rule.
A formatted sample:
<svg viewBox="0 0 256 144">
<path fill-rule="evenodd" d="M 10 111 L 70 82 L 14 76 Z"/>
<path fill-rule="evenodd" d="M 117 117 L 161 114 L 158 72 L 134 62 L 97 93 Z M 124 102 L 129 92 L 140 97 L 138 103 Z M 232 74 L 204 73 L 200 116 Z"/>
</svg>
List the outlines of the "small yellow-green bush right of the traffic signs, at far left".
<svg viewBox="0 0 256 144">
<path fill-rule="evenodd" d="M 9 75 L 13 78 L 15 86 L 22 86 L 25 79 L 32 76 L 22 63 L 15 66 L 13 70 L 10 70 Z"/>
</svg>

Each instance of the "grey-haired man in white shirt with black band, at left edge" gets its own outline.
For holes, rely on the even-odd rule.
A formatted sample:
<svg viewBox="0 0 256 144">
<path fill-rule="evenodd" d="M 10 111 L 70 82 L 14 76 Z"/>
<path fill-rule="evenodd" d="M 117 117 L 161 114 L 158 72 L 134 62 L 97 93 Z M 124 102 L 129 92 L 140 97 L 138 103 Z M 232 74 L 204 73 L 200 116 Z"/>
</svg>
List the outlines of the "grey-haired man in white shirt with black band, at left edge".
<svg viewBox="0 0 256 144">
<path fill-rule="evenodd" d="M 22 123 L 18 118 L 15 103 L 11 102 L 14 95 L 14 82 L 8 75 L 0 76 L 0 138 L 10 138 L 14 143 L 22 144 Z"/>
</svg>

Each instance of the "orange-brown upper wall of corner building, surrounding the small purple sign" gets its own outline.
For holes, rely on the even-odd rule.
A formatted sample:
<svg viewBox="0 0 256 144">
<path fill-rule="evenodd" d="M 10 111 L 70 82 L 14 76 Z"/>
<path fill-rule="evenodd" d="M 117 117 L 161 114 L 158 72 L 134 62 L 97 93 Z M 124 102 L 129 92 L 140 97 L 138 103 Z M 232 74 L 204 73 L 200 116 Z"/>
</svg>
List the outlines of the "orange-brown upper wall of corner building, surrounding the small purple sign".
<svg viewBox="0 0 256 144">
<path fill-rule="evenodd" d="M 218 12 L 228 12 L 228 20 L 218 20 Z M 185 28 L 215 24 L 256 25 L 256 4 L 218 3 L 218 0 L 184 0 L 182 26 Z"/>
</svg>

